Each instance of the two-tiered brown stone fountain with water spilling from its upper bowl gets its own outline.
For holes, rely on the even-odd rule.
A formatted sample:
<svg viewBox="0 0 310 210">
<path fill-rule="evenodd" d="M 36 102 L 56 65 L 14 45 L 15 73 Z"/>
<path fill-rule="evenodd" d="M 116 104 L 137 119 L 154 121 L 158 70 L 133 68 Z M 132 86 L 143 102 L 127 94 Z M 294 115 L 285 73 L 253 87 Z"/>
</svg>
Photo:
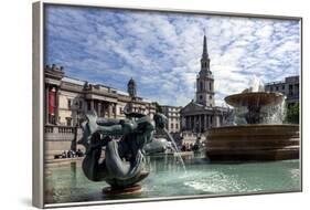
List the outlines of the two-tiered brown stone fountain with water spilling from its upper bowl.
<svg viewBox="0 0 310 210">
<path fill-rule="evenodd" d="M 211 128 L 211 161 L 285 160 L 299 158 L 299 125 L 282 124 L 285 96 L 261 86 L 225 97 L 235 107 L 235 125 Z"/>
</svg>

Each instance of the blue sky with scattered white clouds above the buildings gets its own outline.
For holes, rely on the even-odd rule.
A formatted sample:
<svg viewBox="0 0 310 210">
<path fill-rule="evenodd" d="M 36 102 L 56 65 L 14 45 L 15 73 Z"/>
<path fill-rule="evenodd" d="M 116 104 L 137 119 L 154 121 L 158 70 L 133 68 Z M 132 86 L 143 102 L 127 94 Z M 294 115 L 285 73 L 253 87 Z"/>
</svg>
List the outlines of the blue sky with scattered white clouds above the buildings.
<svg viewBox="0 0 310 210">
<path fill-rule="evenodd" d="M 298 21 L 193 15 L 78 7 L 46 7 L 45 63 L 65 74 L 185 106 L 195 92 L 204 29 L 215 102 L 264 83 L 300 74 Z"/>
</svg>

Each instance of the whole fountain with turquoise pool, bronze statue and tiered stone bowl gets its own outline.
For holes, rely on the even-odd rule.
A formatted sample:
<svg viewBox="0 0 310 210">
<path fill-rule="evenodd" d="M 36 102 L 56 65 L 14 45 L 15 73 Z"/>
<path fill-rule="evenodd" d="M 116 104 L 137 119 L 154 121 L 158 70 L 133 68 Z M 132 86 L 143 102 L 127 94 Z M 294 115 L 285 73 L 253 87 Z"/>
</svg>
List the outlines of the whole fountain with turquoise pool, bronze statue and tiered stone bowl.
<svg viewBox="0 0 310 210">
<path fill-rule="evenodd" d="M 209 158 L 199 154 L 184 161 L 164 129 L 163 115 L 126 113 L 125 119 L 107 119 L 89 113 L 82 124 L 79 144 L 86 147 L 82 166 L 76 160 L 49 168 L 44 199 L 47 203 L 115 202 L 300 191 L 300 160 L 293 159 L 299 157 L 299 126 L 281 124 L 284 99 L 259 88 L 226 97 L 236 107 L 236 125 L 210 129 Z M 154 138 L 156 129 L 167 138 Z M 177 154 L 158 154 L 167 147 Z M 209 159 L 289 160 L 210 164 Z"/>
</svg>

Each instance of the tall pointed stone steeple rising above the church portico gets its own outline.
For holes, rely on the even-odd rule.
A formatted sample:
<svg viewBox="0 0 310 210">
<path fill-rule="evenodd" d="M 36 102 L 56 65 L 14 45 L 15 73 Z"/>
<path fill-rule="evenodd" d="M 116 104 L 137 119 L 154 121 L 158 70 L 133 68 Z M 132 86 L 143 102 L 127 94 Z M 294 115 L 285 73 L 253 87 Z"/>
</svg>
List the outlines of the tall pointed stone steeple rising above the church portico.
<svg viewBox="0 0 310 210">
<path fill-rule="evenodd" d="M 214 78 L 210 71 L 206 36 L 203 36 L 203 52 L 201 57 L 201 71 L 196 78 L 196 103 L 207 107 L 215 106 Z"/>
</svg>

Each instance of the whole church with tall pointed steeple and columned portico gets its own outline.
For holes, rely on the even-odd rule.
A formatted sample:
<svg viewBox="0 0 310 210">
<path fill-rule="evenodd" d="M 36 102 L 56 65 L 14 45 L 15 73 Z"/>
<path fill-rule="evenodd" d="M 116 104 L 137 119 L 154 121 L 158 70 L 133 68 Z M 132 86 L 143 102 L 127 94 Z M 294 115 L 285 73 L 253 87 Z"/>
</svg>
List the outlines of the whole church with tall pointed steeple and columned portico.
<svg viewBox="0 0 310 210">
<path fill-rule="evenodd" d="M 201 70 L 196 77 L 195 99 L 185 105 L 180 114 L 183 133 L 205 133 L 225 123 L 228 108 L 215 106 L 214 76 L 210 70 L 206 36 L 203 38 Z"/>
</svg>

